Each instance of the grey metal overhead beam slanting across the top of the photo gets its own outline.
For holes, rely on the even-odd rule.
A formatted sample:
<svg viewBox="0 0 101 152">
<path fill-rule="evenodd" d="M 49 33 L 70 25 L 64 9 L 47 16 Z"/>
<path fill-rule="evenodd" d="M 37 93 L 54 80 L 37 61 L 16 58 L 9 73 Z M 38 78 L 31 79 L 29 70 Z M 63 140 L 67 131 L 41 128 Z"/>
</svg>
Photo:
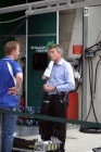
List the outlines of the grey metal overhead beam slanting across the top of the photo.
<svg viewBox="0 0 101 152">
<path fill-rule="evenodd" d="M 72 3 L 71 0 L 43 0 L 26 4 L 1 8 L 0 14 L 26 10 L 27 15 L 34 15 L 100 4 L 101 0 L 85 0 L 80 2 L 77 2 L 76 0 L 74 3 Z"/>
</svg>

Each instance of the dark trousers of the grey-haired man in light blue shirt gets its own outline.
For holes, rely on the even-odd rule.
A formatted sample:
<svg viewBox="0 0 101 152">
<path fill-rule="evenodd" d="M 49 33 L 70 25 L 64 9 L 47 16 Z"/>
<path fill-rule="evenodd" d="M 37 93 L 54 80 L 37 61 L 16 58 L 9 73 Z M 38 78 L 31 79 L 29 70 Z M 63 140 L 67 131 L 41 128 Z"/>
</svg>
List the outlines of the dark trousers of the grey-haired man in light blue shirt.
<svg viewBox="0 0 101 152">
<path fill-rule="evenodd" d="M 52 94 L 48 96 L 45 93 L 41 115 L 55 116 L 66 118 L 67 110 L 67 94 Z M 50 140 L 51 137 L 58 137 L 62 142 L 60 151 L 64 152 L 64 144 L 66 138 L 66 124 L 51 121 L 40 121 L 39 134 L 42 140 Z"/>
</svg>

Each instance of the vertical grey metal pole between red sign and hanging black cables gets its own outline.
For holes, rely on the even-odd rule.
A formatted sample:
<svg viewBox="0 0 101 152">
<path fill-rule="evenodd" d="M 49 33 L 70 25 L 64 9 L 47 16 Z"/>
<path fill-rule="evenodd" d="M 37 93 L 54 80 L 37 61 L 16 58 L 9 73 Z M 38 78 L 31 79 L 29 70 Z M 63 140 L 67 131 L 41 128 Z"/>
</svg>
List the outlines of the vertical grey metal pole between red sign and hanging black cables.
<svg viewBox="0 0 101 152">
<path fill-rule="evenodd" d="M 85 58 L 85 49 L 88 43 L 88 8 L 84 8 L 84 27 L 83 27 L 83 45 L 84 45 L 84 53 L 83 53 L 83 121 L 87 117 L 87 60 Z"/>
</svg>

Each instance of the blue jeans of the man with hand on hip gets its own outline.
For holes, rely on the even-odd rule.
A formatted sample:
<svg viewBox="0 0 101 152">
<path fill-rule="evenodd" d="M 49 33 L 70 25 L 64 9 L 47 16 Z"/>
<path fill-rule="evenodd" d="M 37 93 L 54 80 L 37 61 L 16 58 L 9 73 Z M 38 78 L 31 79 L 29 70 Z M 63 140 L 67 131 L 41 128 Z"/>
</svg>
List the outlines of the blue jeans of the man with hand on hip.
<svg viewBox="0 0 101 152">
<path fill-rule="evenodd" d="M 7 107 L 9 110 L 9 107 Z M 12 110 L 10 107 L 10 110 Z M 2 114 L 1 152 L 12 152 L 13 134 L 16 127 L 16 115 Z"/>
</svg>

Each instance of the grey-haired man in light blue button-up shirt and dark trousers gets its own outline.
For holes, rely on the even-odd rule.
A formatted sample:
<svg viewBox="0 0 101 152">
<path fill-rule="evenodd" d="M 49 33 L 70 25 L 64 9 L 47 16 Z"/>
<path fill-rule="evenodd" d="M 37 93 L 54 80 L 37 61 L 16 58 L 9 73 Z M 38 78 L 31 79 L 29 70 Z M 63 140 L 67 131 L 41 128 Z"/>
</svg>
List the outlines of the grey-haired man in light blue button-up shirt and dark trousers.
<svg viewBox="0 0 101 152">
<path fill-rule="evenodd" d="M 75 80 L 72 65 L 66 62 L 63 55 L 63 49 L 59 45 L 49 47 L 48 54 L 54 62 L 49 79 L 43 85 L 45 97 L 41 106 L 41 114 L 66 118 L 67 92 L 75 89 Z M 60 151 L 64 152 L 66 124 L 58 122 L 40 121 L 40 135 L 42 140 L 58 137 L 62 144 Z"/>
</svg>

